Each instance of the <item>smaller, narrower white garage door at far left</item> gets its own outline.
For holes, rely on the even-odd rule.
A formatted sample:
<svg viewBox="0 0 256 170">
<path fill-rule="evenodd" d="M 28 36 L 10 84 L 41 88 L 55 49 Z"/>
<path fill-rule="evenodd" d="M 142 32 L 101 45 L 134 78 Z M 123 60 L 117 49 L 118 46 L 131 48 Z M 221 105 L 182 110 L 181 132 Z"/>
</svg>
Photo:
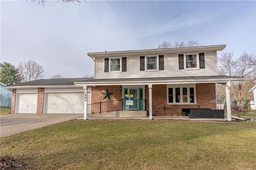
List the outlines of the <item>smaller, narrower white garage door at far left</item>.
<svg viewBox="0 0 256 170">
<path fill-rule="evenodd" d="M 16 113 L 36 113 L 37 94 L 18 94 L 18 106 Z"/>
</svg>

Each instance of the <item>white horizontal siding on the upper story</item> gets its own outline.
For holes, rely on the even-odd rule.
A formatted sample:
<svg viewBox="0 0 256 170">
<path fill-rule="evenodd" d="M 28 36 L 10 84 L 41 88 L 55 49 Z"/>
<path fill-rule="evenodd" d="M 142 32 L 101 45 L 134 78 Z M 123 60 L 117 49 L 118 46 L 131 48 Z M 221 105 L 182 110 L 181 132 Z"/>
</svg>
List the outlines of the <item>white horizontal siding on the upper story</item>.
<svg viewBox="0 0 256 170">
<path fill-rule="evenodd" d="M 218 75 L 216 51 L 204 52 L 204 59 L 205 68 L 179 70 L 178 53 L 166 54 L 164 55 L 164 70 L 140 71 L 140 56 L 128 56 L 126 72 L 104 72 L 104 57 L 97 57 L 97 62 L 95 63 L 95 78 L 142 78 Z"/>
</svg>

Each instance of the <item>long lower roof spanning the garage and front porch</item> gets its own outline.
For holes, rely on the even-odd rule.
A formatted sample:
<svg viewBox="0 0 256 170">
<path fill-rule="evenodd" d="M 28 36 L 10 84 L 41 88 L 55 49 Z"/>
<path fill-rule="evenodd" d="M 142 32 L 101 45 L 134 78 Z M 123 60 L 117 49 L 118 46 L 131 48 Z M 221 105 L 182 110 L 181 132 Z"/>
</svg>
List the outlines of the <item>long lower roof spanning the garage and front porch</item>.
<svg viewBox="0 0 256 170">
<path fill-rule="evenodd" d="M 30 82 L 23 82 L 7 86 L 7 88 L 32 88 L 49 86 L 97 86 L 97 85 L 125 85 L 125 84 L 178 84 L 178 83 L 223 83 L 227 81 L 244 81 L 245 78 L 237 76 L 176 76 L 176 77 L 148 77 L 148 78 L 59 78 L 59 79 L 41 79 Z"/>
</svg>

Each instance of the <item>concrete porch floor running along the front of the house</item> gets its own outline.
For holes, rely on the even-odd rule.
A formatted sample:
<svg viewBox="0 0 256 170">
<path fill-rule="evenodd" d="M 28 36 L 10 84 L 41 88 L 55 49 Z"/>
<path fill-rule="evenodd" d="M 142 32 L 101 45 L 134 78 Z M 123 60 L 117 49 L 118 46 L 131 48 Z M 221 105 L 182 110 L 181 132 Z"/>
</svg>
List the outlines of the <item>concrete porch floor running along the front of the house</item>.
<svg viewBox="0 0 256 170">
<path fill-rule="evenodd" d="M 83 119 L 83 118 L 81 118 Z M 110 119 L 110 120 L 150 120 L 149 116 L 147 117 L 97 117 L 94 115 L 87 115 L 88 120 L 95 120 L 95 119 Z M 182 120 L 182 121 L 228 121 L 227 118 L 225 119 L 190 119 L 184 116 L 152 116 L 152 120 Z M 234 121 L 235 119 L 232 119 Z"/>
</svg>

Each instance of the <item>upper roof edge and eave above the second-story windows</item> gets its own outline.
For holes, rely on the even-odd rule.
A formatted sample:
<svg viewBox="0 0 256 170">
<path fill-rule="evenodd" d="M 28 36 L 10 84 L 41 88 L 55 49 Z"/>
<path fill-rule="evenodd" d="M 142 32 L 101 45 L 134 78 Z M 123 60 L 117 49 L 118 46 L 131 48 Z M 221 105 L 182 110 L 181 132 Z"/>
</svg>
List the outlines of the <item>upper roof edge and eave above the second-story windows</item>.
<svg viewBox="0 0 256 170">
<path fill-rule="evenodd" d="M 192 52 L 206 52 L 206 51 L 222 51 L 226 45 L 210 45 L 199 47 L 182 47 L 182 48 L 168 48 L 168 49 L 145 49 L 145 50 L 131 50 L 131 51 L 108 51 L 87 53 L 89 57 L 116 57 L 120 55 L 155 55 L 155 54 L 170 54 L 170 53 L 192 53 Z"/>
</svg>

